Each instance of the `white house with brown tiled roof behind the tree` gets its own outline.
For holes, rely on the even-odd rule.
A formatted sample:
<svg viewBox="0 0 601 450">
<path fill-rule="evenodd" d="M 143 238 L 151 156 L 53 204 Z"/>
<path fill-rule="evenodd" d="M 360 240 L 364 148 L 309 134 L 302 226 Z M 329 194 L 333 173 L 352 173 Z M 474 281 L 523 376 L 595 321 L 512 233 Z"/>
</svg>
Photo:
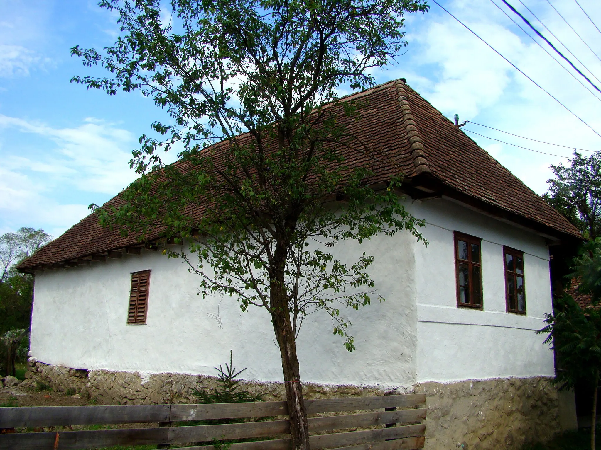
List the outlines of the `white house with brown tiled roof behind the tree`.
<svg viewBox="0 0 601 450">
<path fill-rule="evenodd" d="M 339 249 L 376 256 L 370 274 L 386 302 L 352 315 L 352 353 L 327 317 L 307 321 L 302 379 L 333 395 L 347 385 L 425 391 L 429 448 L 518 448 L 526 434 L 549 436 L 561 419 L 554 356 L 535 331 L 552 310 L 549 247 L 570 245 L 578 230 L 403 79 L 359 95 L 368 112 L 349 126 L 403 165 L 406 206 L 426 221 L 429 245 L 397 233 Z M 144 391 L 159 375 L 214 375 L 232 349 L 245 379 L 281 382 L 266 312 L 197 296 L 187 267 L 152 242 L 102 229 L 94 215 L 67 230 L 19 266 L 35 273 L 35 370 L 56 383 L 65 383 L 60 367 L 88 379 L 129 373 Z M 162 400 L 92 388 L 109 400 Z"/>
</svg>

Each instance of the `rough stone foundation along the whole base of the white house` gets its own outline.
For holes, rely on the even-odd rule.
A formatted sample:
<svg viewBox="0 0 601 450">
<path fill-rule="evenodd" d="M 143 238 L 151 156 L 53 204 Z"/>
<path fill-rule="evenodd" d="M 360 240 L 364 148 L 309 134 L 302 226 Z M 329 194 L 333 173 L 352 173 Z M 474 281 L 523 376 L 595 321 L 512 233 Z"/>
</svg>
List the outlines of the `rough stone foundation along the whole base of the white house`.
<svg viewBox="0 0 601 450">
<path fill-rule="evenodd" d="M 31 359 L 28 380 L 55 391 L 80 394 L 99 404 L 195 403 L 192 389 L 216 386 L 215 377 L 76 370 Z M 282 383 L 245 382 L 264 400 L 284 400 Z M 373 386 L 304 385 L 306 398 L 383 395 Z M 398 389 L 398 392 L 406 392 Z M 557 390 L 546 377 L 420 383 L 410 392 L 427 398 L 426 450 L 519 450 L 561 430 Z"/>
</svg>

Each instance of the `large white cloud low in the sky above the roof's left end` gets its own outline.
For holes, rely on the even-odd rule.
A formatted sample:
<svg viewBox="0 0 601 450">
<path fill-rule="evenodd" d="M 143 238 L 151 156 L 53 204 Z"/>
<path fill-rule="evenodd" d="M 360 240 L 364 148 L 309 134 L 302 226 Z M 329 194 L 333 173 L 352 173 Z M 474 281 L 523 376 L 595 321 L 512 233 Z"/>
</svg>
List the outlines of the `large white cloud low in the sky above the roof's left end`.
<svg viewBox="0 0 601 450">
<path fill-rule="evenodd" d="M 53 128 L 0 115 L 2 129 L 5 138 L 35 145 L 3 143 L 0 230 L 44 226 L 59 235 L 89 213 L 89 203 L 102 203 L 135 178 L 128 165 L 135 139 L 114 124 L 90 118 L 75 128 Z"/>
</svg>

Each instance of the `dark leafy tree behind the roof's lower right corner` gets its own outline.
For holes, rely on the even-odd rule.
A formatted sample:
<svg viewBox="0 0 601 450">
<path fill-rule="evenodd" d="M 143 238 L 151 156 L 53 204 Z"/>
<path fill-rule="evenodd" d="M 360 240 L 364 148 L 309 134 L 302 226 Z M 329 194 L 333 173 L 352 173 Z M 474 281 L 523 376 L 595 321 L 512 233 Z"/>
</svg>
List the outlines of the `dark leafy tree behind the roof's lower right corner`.
<svg viewBox="0 0 601 450">
<path fill-rule="evenodd" d="M 601 236 L 601 152 L 588 158 L 574 152 L 569 167 L 551 165 L 551 178 L 543 199 L 566 216 L 585 237 Z"/>
</svg>

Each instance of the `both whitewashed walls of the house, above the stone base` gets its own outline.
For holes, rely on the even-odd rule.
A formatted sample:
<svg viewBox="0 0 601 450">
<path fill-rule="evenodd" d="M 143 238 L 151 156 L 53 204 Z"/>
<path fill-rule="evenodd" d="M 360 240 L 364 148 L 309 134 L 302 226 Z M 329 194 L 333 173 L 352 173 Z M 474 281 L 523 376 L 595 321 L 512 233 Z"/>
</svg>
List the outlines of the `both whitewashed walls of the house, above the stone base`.
<svg viewBox="0 0 601 450">
<path fill-rule="evenodd" d="M 332 335 L 328 317 L 310 317 L 298 342 L 302 379 L 410 386 L 552 374 L 552 353 L 532 331 L 551 305 L 543 239 L 447 200 L 409 207 L 426 218 L 429 247 L 407 233 L 340 247 L 342 259 L 362 251 L 376 256 L 370 274 L 386 302 L 348 311 L 353 353 Z M 483 238 L 484 312 L 455 306 L 453 230 Z M 500 244 L 526 253 L 528 317 L 505 313 Z M 144 269 L 151 269 L 147 324 L 126 325 L 130 272 Z M 248 368 L 245 378 L 282 380 L 266 312 L 242 313 L 230 297 L 203 299 L 199 282 L 181 260 L 152 251 L 38 274 L 32 356 L 73 368 L 215 374 L 233 349 L 234 365 Z M 219 314 L 223 329 L 207 314 Z"/>
</svg>

